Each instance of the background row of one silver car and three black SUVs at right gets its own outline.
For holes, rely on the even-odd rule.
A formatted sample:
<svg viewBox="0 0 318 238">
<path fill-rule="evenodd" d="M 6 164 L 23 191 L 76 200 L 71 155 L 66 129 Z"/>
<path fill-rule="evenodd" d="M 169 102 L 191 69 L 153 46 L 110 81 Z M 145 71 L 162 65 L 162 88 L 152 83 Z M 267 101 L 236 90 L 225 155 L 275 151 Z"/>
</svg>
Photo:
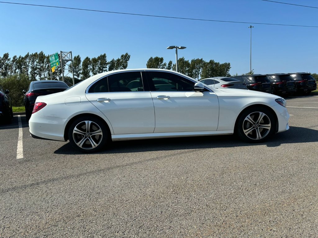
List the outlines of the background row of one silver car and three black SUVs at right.
<svg viewBox="0 0 318 238">
<path fill-rule="evenodd" d="M 275 95 L 309 94 L 317 89 L 317 83 L 309 73 L 252 74 L 233 77 L 213 77 L 200 82 L 215 88 L 250 89 Z"/>
</svg>

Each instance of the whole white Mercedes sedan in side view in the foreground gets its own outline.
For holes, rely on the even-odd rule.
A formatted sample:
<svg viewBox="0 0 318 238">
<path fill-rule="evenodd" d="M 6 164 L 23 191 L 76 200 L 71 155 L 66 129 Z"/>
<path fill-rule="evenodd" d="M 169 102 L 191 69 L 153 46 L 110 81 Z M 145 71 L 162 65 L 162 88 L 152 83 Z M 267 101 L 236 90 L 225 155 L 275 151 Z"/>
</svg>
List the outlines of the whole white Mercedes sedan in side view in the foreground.
<svg viewBox="0 0 318 238">
<path fill-rule="evenodd" d="M 111 140 L 237 134 L 262 142 L 288 130 L 288 119 L 279 96 L 211 88 L 171 70 L 125 69 L 39 96 L 29 127 L 34 138 L 95 152 Z"/>
</svg>

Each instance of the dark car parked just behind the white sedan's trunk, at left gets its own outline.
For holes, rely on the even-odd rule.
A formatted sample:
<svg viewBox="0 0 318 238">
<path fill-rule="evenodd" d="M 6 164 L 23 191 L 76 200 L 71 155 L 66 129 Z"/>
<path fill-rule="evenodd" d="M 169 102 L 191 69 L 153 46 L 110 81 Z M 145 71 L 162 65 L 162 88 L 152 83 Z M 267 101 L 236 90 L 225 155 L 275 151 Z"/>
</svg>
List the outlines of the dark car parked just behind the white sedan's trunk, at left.
<svg viewBox="0 0 318 238">
<path fill-rule="evenodd" d="M 52 93 L 62 92 L 65 89 L 68 89 L 66 83 L 56 80 L 40 80 L 32 81 L 30 83 L 28 91 L 23 90 L 24 95 L 24 107 L 25 107 L 25 116 L 26 120 L 29 121 L 35 99 L 38 96 L 48 95 Z"/>
</svg>

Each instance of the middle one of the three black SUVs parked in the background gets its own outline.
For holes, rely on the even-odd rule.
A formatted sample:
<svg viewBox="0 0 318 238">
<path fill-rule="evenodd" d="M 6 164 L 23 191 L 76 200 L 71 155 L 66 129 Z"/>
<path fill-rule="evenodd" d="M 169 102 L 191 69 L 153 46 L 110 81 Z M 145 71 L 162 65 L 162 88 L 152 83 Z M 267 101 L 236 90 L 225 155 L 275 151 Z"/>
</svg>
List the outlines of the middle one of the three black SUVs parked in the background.
<svg viewBox="0 0 318 238">
<path fill-rule="evenodd" d="M 272 82 L 273 93 L 276 95 L 291 95 L 296 92 L 296 84 L 289 74 L 266 74 Z"/>
</svg>

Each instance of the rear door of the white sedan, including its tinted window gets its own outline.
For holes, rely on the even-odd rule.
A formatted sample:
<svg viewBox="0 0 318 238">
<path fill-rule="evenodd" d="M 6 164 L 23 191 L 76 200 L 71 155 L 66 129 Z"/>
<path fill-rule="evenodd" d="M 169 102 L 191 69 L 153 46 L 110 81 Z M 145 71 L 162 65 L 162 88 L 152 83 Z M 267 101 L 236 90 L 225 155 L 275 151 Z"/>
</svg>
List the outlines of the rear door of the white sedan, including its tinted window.
<svg viewBox="0 0 318 238">
<path fill-rule="evenodd" d="M 146 86 L 146 88 L 148 88 Z M 154 104 L 141 71 L 106 76 L 86 90 L 86 98 L 108 119 L 114 134 L 152 133 Z"/>
</svg>

